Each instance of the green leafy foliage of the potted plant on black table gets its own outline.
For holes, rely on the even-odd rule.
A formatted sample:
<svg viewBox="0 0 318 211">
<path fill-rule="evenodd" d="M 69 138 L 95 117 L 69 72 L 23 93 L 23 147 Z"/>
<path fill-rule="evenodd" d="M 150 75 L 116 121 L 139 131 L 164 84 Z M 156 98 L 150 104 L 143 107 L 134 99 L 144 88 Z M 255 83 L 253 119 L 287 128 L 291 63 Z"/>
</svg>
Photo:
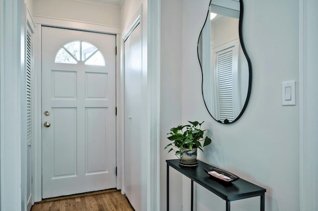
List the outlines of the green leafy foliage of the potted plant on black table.
<svg viewBox="0 0 318 211">
<path fill-rule="evenodd" d="M 198 148 L 202 152 L 202 148 L 211 144 L 211 139 L 208 136 L 204 137 L 204 131 L 201 130 L 201 125 L 204 122 L 199 123 L 198 121 L 188 121 L 190 124 L 188 125 L 178 125 L 177 127 L 172 127 L 170 129 L 170 135 L 167 137 L 172 143 L 165 146 L 164 149 L 171 146 L 171 149 L 168 151 L 174 151 L 175 155 L 180 158 L 183 155 L 184 149 L 188 148 L 192 150 L 192 148 Z M 204 141 L 203 146 L 201 142 Z"/>
</svg>

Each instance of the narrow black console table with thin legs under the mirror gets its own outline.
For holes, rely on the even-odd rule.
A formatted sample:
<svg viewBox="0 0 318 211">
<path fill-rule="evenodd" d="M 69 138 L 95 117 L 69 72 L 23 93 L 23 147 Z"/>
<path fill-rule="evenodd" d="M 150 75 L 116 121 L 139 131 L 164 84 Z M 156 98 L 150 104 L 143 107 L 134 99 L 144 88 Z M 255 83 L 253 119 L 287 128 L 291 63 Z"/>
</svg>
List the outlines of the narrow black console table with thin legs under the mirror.
<svg viewBox="0 0 318 211">
<path fill-rule="evenodd" d="M 226 211 L 230 211 L 231 201 L 260 196 L 260 211 L 265 210 L 266 189 L 243 179 L 231 183 L 217 181 L 203 170 L 205 167 L 214 167 L 198 160 L 199 165 L 186 167 L 179 165 L 179 159 L 166 160 L 167 162 L 167 211 L 169 211 L 169 166 L 191 179 L 191 211 L 193 211 L 193 181 L 213 192 L 226 201 Z"/>
</svg>

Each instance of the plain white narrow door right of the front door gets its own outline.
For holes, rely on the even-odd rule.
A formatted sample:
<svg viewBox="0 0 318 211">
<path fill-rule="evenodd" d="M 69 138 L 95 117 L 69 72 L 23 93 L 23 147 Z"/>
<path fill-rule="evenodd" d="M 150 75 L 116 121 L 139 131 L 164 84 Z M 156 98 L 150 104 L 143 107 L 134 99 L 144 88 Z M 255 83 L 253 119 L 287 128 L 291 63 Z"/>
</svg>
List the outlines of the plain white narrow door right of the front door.
<svg viewBox="0 0 318 211">
<path fill-rule="evenodd" d="M 136 211 L 141 210 L 141 24 L 125 41 L 125 192 Z"/>
</svg>

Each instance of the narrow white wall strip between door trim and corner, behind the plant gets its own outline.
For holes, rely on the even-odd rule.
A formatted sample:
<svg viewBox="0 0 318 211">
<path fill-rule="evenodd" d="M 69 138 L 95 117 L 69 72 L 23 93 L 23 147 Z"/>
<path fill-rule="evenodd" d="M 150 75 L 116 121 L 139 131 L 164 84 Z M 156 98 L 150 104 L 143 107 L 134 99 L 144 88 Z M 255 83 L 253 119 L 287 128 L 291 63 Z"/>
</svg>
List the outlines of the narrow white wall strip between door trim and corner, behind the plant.
<svg viewBox="0 0 318 211">
<path fill-rule="evenodd" d="M 161 0 L 160 149 L 169 144 L 167 133 L 182 121 L 182 1 Z M 161 210 L 166 209 L 166 159 L 175 159 L 169 149 L 161 151 Z M 182 176 L 169 169 L 171 211 L 182 210 Z"/>
</svg>

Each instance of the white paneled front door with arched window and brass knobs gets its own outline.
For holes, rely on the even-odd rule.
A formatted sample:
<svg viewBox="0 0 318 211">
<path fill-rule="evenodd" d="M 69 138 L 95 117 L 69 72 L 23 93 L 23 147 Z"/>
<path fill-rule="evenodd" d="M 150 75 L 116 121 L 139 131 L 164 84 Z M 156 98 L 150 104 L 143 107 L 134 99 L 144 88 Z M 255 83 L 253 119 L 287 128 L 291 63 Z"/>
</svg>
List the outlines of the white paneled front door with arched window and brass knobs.
<svg viewBox="0 0 318 211">
<path fill-rule="evenodd" d="M 116 187 L 115 45 L 42 27 L 43 198 Z"/>
</svg>

